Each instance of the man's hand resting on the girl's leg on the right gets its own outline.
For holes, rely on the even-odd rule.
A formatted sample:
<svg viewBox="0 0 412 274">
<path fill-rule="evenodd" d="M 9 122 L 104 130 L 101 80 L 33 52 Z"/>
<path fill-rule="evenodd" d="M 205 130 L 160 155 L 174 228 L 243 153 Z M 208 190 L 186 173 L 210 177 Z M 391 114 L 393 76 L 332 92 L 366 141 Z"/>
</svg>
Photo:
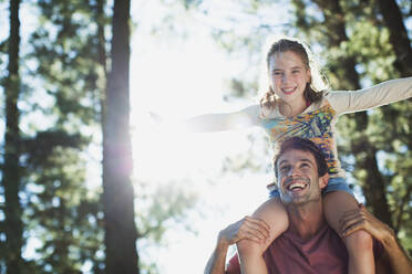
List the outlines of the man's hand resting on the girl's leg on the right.
<svg viewBox="0 0 412 274">
<path fill-rule="evenodd" d="M 379 241 L 394 236 L 393 230 L 372 215 L 361 203 L 359 210 L 348 211 L 340 220 L 340 234 L 348 236 L 358 230 L 364 230 Z"/>
</svg>

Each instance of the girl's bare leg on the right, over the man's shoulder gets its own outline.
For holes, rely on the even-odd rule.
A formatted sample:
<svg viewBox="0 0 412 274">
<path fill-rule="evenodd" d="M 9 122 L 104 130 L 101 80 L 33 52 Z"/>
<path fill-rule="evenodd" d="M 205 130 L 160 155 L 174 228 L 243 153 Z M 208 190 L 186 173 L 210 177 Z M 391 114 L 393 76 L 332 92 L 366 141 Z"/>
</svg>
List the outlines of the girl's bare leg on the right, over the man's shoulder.
<svg viewBox="0 0 412 274">
<path fill-rule="evenodd" d="M 340 234 L 340 219 L 344 212 L 359 210 L 357 200 L 346 191 L 328 192 L 323 199 L 326 219 L 332 229 Z M 364 230 L 357 231 L 343 242 L 349 253 L 349 274 L 374 273 L 372 236 Z"/>
</svg>

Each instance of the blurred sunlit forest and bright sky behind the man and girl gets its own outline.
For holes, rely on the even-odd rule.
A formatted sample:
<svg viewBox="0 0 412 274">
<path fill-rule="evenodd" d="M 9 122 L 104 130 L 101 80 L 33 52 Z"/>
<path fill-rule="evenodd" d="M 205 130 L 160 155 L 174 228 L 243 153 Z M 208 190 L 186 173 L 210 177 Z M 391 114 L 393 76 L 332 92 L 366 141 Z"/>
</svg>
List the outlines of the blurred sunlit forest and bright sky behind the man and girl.
<svg viewBox="0 0 412 274">
<path fill-rule="evenodd" d="M 0 0 L 0 273 L 202 273 L 267 199 L 269 144 L 148 113 L 256 104 L 274 35 L 332 89 L 412 75 L 409 0 Z M 357 198 L 412 254 L 412 101 L 337 127 Z"/>
</svg>

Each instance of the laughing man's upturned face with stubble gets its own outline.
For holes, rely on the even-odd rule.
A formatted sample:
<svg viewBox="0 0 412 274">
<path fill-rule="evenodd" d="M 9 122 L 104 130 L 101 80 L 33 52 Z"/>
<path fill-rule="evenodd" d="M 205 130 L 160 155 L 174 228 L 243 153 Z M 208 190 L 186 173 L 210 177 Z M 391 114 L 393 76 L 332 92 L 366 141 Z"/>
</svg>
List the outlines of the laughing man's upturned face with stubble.
<svg viewBox="0 0 412 274">
<path fill-rule="evenodd" d="M 319 201 L 327 179 L 319 178 L 318 166 L 311 152 L 290 149 L 278 159 L 278 189 L 285 204 L 305 204 Z"/>
</svg>

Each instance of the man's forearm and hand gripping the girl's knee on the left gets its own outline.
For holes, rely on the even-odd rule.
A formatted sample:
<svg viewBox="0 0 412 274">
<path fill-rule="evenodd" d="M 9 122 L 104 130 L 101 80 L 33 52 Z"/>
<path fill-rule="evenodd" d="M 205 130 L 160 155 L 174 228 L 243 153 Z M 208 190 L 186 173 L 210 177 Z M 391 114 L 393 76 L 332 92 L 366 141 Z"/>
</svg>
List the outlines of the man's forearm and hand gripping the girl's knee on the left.
<svg viewBox="0 0 412 274">
<path fill-rule="evenodd" d="M 224 274 L 226 253 L 229 245 L 235 244 L 241 239 L 249 239 L 256 242 L 262 242 L 269 236 L 269 226 L 264 221 L 245 217 L 240 221 L 230 224 L 219 232 L 214 253 L 208 260 L 205 274 Z"/>
</svg>

